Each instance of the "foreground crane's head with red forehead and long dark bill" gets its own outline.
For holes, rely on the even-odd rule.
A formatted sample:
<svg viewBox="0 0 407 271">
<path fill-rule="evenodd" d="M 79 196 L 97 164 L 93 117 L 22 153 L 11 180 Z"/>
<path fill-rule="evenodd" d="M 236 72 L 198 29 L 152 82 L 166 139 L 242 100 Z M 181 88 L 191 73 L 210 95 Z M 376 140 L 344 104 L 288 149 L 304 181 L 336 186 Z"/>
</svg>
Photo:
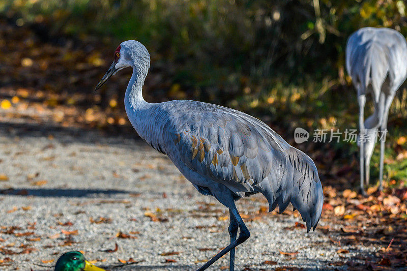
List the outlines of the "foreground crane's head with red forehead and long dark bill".
<svg viewBox="0 0 407 271">
<path fill-rule="evenodd" d="M 146 47 L 138 41 L 129 40 L 122 42 L 114 51 L 114 60 L 109 69 L 97 84 L 95 91 L 99 89 L 110 76 L 118 71 L 133 67 L 140 76 L 147 76 L 150 67 L 150 54 Z"/>
</svg>

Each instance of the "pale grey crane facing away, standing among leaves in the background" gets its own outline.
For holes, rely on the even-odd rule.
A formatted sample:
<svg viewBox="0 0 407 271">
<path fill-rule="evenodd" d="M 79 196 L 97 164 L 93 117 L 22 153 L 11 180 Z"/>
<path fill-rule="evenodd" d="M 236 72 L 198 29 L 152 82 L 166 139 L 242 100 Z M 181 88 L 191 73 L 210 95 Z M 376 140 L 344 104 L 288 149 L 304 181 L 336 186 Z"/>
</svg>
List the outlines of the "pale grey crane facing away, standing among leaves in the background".
<svg viewBox="0 0 407 271">
<path fill-rule="evenodd" d="M 360 189 L 364 194 L 364 180 L 366 185 L 369 184 L 370 159 L 377 140 L 377 129 L 380 129 L 379 189 L 382 191 L 387 118 L 397 89 L 407 76 L 407 43 L 394 29 L 361 28 L 347 40 L 346 69 L 358 92 Z M 364 121 L 367 94 L 372 97 L 374 112 Z"/>
</svg>

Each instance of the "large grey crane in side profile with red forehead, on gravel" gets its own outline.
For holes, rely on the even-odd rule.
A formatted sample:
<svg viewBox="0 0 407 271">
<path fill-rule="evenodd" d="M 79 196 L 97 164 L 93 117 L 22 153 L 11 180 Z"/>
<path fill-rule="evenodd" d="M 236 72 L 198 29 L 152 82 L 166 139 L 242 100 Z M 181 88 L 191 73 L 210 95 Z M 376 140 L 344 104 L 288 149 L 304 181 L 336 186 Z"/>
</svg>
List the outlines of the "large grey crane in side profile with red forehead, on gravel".
<svg viewBox="0 0 407 271">
<path fill-rule="evenodd" d="M 269 211 L 279 205 L 283 212 L 291 202 L 307 231 L 315 229 L 324 195 L 315 164 L 306 154 L 257 118 L 234 109 L 189 100 L 144 101 L 141 88 L 150 55 L 137 41 L 125 41 L 116 49 L 114 61 L 96 89 L 126 67 L 132 67 L 133 74 L 125 109 L 139 136 L 166 154 L 199 193 L 214 196 L 229 209 L 230 245 L 198 270 L 205 270 L 229 251 L 229 267 L 234 270 L 235 247 L 250 236 L 235 206 L 244 196 L 262 193 Z"/>
</svg>

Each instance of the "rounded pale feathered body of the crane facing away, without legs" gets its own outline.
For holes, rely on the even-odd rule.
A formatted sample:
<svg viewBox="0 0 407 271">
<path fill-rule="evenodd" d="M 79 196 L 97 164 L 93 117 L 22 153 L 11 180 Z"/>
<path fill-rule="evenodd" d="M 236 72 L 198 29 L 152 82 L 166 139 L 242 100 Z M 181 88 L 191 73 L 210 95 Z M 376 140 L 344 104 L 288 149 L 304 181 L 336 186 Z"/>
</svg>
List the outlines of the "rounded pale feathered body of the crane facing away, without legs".
<svg viewBox="0 0 407 271">
<path fill-rule="evenodd" d="M 385 80 L 395 92 L 407 75 L 407 43 L 390 28 L 365 27 L 351 35 L 346 44 L 346 70 L 360 94 L 371 84 L 379 99 Z"/>
</svg>

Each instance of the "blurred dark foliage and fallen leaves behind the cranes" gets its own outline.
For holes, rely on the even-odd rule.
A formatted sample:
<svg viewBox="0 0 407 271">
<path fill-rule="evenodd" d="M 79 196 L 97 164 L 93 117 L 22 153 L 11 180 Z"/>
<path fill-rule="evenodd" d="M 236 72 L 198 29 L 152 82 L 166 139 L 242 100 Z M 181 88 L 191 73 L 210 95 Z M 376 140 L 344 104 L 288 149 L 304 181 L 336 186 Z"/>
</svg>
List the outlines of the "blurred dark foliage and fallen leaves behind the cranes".
<svg viewBox="0 0 407 271">
<path fill-rule="evenodd" d="M 298 126 L 357 128 L 356 92 L 344 68 L 347 37 L 364 26 L 391 27 L 407 36 L 406 5 L 401 0 L 3 0 L 0 16 L 8 30 L 0 60 L 9 66 L 3 65 L 0 74 L 7 76 L 0 83 L 45 93 L 50 107 L 79 108 L 88 124 L 129 126 L 121 117 L 129 76 L 115 76 L 100 94 L 93 88 L 114 49 L 135 39 L 152 58 L 146 100 L 193 99 L 243 110 L 293 143 Z M 21 59 L 33 63 L 24 66 Z M 407 157 L 400 140 L 406 97 L 402 87 L 391 108 L 387 141 L 387 178 L 397 182 L 407 176 L 399 162 Z M 357 179 L 355 143 L 302 148 L 321 161 L 318 168 L 327 176 L 351 165 L 354 175 L 347 179 Z"/>
</svg>

